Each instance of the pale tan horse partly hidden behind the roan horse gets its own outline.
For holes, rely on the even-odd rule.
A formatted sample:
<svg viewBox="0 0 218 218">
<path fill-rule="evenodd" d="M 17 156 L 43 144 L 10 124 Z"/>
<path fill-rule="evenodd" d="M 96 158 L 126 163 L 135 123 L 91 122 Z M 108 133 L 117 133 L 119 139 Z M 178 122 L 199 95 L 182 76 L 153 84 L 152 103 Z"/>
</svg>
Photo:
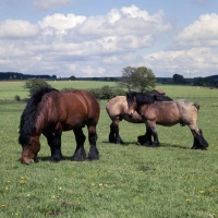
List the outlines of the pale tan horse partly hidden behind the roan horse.
<svg viewBox="0 0 218 218">
<path fill-rule="evenodd" d="M 165 95 L 150 95 L 154 100 L 172 100 L 170 97 Z M 120 134 L 119 134 L 119 123 L 122 120 L 125 120 L 131 123 L 144 123 L 142 117 L 134 112 L 132 117 L 128 114 L 128 101 L 126 96 L 117 96 L 110 99 L 106 104 L 106 111 L 111 119 L 110 132 L 109 132 L 109 143 L 114 144 L 124 144 Z M 149 129 L 146 130 L 145 135 L 138 136 L 138 143 L 143 144 L 145 142 L 152 143 L 152 132 Z"/>
</svg>

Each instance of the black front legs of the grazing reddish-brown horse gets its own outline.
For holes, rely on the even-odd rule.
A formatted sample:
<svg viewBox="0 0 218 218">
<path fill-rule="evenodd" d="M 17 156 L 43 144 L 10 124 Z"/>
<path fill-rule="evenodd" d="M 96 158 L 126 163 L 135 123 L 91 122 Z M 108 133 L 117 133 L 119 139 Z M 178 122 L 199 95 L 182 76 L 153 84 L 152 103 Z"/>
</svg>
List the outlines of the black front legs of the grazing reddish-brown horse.
<svg viewBox="0 0 218 218">
<path fill-rule="evenodd" d="M 62 159 L 61 153 L 61 132 L 55 133 L 51 132 L 44 132 L 44 135 L 47 137 L 48 145 L 50 146 L 51 150 L 51 161 L 60 161 Z"/>
</svg>

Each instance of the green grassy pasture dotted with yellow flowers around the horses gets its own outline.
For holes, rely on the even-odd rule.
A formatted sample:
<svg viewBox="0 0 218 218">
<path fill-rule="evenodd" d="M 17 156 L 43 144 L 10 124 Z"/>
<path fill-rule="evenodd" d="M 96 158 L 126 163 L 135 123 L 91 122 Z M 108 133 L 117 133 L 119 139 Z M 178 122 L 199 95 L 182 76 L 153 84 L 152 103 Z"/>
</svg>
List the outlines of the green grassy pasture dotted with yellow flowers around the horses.
<svg viewBox="0 0 218 218">
<path fill-rule="evenodd" d="M 110 82 L 49 82 L 55 88 L 90 88 Z M 208 150 L 191 150 L 187 126 L 159 126 L 160 146 L 137 146 L 144 124 L 120 123 L 124 145 L 108 143 L 110 119 L 100 101 L 97 125 L 97 161 L 72 162 L 72 132 L 62 134 L 63 160 L 49 161 L 50 149 L 40 137 L 37 162 L 20 164 L 17 143 L 20 117 L 27 97 L 22 82 L 0 83 L 0 217 L 218 217 L 218 89 L 157 85 L 173 99 L 186 98 L 201 105 L 198 126 L 209 143 Z M 88 152 L 87 131 L 85 149 Z"/>
</svg>

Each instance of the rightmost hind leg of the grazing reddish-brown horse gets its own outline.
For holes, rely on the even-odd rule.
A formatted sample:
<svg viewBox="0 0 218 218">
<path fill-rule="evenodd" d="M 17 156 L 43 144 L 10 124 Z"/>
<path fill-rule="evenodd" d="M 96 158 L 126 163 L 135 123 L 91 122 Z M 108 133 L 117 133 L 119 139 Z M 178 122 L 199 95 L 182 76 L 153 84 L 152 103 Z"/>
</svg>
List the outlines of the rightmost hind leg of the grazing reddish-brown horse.
<svg viewBox="0 0 218 218">
<path fill-rule="evenodd" d="M 97 133 L 96 133 L 95 125 L 88 126 L 88 142 L 89 142 L 90 148 L 89 148 L 87 159 L 88 160 L 98 160 L 99 154 L 98 154 L 98 149 L 96 147 Z"/>
</svg>

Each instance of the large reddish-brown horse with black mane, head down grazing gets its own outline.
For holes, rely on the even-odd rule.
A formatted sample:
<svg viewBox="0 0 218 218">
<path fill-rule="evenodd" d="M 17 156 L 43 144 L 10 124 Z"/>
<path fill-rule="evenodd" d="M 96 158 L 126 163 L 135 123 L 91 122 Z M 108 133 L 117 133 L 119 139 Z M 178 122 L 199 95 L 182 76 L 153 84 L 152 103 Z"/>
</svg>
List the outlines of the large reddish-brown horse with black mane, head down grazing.
<svg viewBox="0 0 218 218">
<path fill-rule="evenodd" d="M 86 159 L 84 149 L 87 125 L 90 149 L 87 159 L 98 159 L 96 148 L 96 125 L 100 108 L 97 99 L 87 90 L 58 92 L 53 88 L 41 88 L 28 100 L 21 116 L 19 143 L 23 147 L 21 162 L 34 162 L 40 149 L 39 136 L 47 137 L 51 150 L 51 161 L 60 161 L 62 131 L 73 130 L 76 149 L 71 160 Z"/>
</svg>

